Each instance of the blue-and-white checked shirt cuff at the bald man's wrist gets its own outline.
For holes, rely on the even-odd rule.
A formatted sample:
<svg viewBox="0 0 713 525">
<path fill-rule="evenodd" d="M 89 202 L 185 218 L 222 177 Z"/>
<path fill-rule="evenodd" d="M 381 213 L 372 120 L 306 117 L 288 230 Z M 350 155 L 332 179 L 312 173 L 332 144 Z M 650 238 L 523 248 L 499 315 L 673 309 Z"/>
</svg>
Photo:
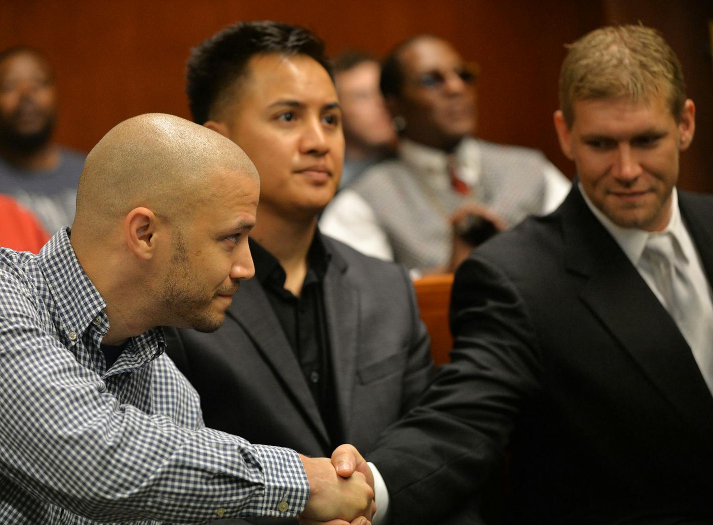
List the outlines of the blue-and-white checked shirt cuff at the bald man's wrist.
<svg viewBox="0 0 713 525">
<path fill-rule="evenodd" d="M 285 518 L 301 514 L 309 499 L 309 482 L 297 452 L 268 445 L 252 447 L 265 479 L 262 501 L 255 501 L 257 515 Z"/>
</svg>

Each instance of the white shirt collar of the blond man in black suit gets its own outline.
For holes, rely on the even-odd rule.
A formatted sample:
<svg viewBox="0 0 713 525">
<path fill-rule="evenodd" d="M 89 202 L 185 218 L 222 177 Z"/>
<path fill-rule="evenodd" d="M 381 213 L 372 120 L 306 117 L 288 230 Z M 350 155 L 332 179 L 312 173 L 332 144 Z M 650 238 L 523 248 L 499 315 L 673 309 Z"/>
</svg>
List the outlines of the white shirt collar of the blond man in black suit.
<svg viewBox="0 0 713 525">
<path fill-rule="evenodd" d="M 684 239 L 689 239 L 688 232 L 684 228 L 683 221 L 681 219 L 681 212 L 678 208 L 678 192 L 676 188 L 671 192 L 671 218 L 669 223 L 660 232 L 647 232 L 646 230 L 639 228 L 622 228 L 617 224 L 614 224 L 609 217 L 607 217 L 599 208 L 597 208 L 584 191 L 582 183 L 579 183 L 580 193 L 584 197 L 584 201 L 587 206 L 592 211 L 595 217 L 602 223 L 602 226 L 607 229 L 612 237 L 614 237 L 617 244 L 624 251 L 629 260 L 636 266 L 639 264 L 641 259 L 641 254 L 646 247 L 646 241 L 652 235 L 665 235 L 671 234 L 674 239 L 674 248 L 677 256 L 683 257 L 687 260 L 685 250 L 682 248 L 682 243 Z"/>
</svg>

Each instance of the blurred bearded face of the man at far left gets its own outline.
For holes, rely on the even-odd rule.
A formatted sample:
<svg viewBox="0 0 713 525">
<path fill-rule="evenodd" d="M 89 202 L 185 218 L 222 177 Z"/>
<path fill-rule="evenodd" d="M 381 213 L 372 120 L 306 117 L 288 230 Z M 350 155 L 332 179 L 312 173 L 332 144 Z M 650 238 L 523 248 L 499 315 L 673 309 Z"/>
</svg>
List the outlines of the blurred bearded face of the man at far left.
<svg viewBox="0 0 713 525">
<path fill-rule="evenodd" d="M 46 145 L 54 128 L 56 90 L 41 56 L 20 51 L 0 63 L 0 140 L 11 150 Z"/>
</svg>

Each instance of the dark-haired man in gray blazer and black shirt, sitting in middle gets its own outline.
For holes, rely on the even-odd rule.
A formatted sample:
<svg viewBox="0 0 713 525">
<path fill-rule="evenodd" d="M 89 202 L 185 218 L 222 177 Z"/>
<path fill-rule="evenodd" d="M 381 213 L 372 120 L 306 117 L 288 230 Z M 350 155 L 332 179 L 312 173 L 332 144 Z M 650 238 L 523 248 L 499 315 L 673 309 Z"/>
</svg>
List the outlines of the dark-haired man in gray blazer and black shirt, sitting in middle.
<svg viewBox="0 0 713 525">
<path fill-rule="evenodd" d="M 317 229 L 344 155 L 322 48 L 302 28 L 250 22 L 193 50 L 194 120 L 234 140 L 260 173 L 256 276 L 220 331 L 168 333 L 207 425 L 319 456 L 342 442 L 369 449 L 434 373 L 406 269 Z"/>
</svg>

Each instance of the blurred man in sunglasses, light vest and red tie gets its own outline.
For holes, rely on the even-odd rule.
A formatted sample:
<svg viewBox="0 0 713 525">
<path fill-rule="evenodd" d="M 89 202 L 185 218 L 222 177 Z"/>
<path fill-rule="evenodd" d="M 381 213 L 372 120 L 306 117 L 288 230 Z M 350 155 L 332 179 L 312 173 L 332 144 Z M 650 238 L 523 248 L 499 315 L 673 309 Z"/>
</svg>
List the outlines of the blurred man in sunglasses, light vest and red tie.
<svg viewBox="0 0 713 525">
<path fill-rule="evenodd" d="M 323 231 L 415 274 L 439 273 L 461 260 L 456 218 L 485 217 L 503 229 L 557 207 L 570 182 L 541 152 L 474 137 L 477 80 L 478 67 L 442 38 L 396 46 L 382 65 L 381 91 L 398 156 L 341 192 Z"/>
</svg>

